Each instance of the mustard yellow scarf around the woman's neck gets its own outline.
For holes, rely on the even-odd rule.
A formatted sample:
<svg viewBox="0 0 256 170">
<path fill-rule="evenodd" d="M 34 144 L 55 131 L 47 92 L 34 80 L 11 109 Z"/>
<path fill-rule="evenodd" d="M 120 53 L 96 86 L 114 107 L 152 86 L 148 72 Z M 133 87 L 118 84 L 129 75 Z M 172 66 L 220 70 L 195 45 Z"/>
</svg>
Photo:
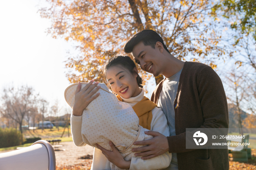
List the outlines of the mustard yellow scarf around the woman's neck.
<svg viewBox="0 0 256 170">
<path fill-rule="evenodd" d="M 123 101 L 120 95 L 117 95 L 116 97 L 119 101 Z M 157 107 L 157 105 L 145 96 L 142 100 L 140 100 L 132 107 L 136 115 L 139 117 L 139 125 L 141 125 L 143 128 L 150 130 L 150 124 L 153 117 L 152 110 L 155 107 Z"/>
</svg>

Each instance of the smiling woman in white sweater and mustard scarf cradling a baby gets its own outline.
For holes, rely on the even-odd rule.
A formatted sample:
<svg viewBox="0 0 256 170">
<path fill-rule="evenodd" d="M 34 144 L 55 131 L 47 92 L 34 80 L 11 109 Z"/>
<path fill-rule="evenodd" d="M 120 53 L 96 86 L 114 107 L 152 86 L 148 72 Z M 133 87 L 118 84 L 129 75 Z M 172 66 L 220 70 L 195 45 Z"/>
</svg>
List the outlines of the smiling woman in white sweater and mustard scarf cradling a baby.
<svg viewBox="0 0 256 170">
<path fill-rule="evenodd" d="M 117 94 L 118 100 L 132 106 L 139 117 L 139 124 L 142 127 L 160 132 L 165 136 L 169 135 L 167 120 L 160 108 L 155 106 L 151 111 L 145 112 L 145 108 L 147 108 L 148 105 L 152 105 L 153 102 L 144 96 L 142 78 L 138 75 L 136 65 L 131 58 L 128 56 L 116 56 L 110 58 L 103 67 L 103 74 L 112 91 Z M 93 96 L 97 91 L 97 88 L 94 89 L 96 86 L 95 84 L 91 86 L 89 85 L 82 90 L 79 88 L 77 89 L 73 114 L 71 115 L 72 138 L 76 146 L 85 145 L 81 138 L 81 111 L 87 103 L 89 104 L 90 101 L 94 100 L 94 98 L 99 95 L 98 93 Z M 82 96 L 87 97 L 85 102 L 82 102 Z M 80 115 L 77 114 L 79 109 Z M 166 152 L 163 155 L 148 160 L 132 157 L 130 161 L 125 161 L 120 152 L 113 146 L 112 142 L 110 142 L 110 146 L 113 151 L 108 152 L 99 145 L 98 148 L 101 148 L 102 151 L 97 148 L 94 149 L 92 170 L 111 169 L 110 162 L 121 169 L 162 169 L 166 167 L 166 163 L 169 162 L 172 157 L 171 154 Z"/>
</svg>

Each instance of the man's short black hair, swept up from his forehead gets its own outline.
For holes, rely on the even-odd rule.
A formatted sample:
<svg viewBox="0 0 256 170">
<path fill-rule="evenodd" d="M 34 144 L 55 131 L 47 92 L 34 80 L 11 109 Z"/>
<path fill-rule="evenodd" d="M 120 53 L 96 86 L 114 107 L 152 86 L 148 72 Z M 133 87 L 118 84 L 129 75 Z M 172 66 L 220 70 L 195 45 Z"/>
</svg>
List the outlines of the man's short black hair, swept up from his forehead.
<svg viewBox="0 0 256 170">
<path fill-rule="evenodd" d="M 136 46 L 138 43 L 143 42 L 145 46 L 151 46 L 153 49 L 155 49 L 155 44 L 159 41 L 162 43 L 163 48 L 170 53 L 170 51 L 165 46 L 165 43 L 163 43 L 163 39 L 157 32 L 153 30 L 143 30 L 135 34 L 131 39 L 128 40 L 128 42 L 124 45 L 124 52 L 125 53 L 131 53 L 133 50 L 133 47 Z"/>
</svg>

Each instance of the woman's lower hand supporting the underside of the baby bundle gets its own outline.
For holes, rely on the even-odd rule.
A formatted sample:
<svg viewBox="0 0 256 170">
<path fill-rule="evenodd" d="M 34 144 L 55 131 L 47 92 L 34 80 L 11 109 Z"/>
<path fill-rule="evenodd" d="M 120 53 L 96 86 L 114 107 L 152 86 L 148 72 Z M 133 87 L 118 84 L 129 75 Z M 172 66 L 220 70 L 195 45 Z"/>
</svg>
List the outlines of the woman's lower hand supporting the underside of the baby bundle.
<svg viewBox="0 0 256 170">
<path fill-rule="evenodd" d="M 125 161 L 120 152 L 114 146 L 113 142 L 109 142 L 110 147 L 113 151 L 106 150 L 105 148 L 96 144 L 97 147 L 102 151 L 102 154 L 109 160 L 109 162 L 113 163 L 117 167 L 121 169 L 129 169 L 131 165 L 131 161 Z"/>
</svg>

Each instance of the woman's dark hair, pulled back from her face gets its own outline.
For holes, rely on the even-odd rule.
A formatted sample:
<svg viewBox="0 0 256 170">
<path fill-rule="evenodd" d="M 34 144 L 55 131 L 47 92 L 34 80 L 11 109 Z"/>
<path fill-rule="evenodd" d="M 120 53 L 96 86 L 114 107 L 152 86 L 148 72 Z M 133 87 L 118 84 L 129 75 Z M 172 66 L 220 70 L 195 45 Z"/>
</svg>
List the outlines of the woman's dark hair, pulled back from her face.
<svg viewBox="0 0 256 170">
<path fill-rule="evenodd" d="M 137 80 L 138 86 L 140 88 L 143 88 L 142 78 L 139 76 L 139 74 L 137 72 L 134 71 L 134 68 L 136 67 L 136 65 L 132 61 L 132 59 L 128 56 L 122 56 L 122 55 L 114 56 L 114 57 L 110 58 L 105 63 L 105 65 L 103 66 L 103 69 L 102 69 L 102 73 L 103 73 L 103 77 L 104 77 L 105 81 L 107 81 L 106 70 L 109 67 L 116 66 L 116 65 L 121 65 L 121 66 L 127 68 L 129 70 L 129 72 L 131 72 L 132 74 L 136 73 L 137 74 L 136 80 Z"/>
</svg>

